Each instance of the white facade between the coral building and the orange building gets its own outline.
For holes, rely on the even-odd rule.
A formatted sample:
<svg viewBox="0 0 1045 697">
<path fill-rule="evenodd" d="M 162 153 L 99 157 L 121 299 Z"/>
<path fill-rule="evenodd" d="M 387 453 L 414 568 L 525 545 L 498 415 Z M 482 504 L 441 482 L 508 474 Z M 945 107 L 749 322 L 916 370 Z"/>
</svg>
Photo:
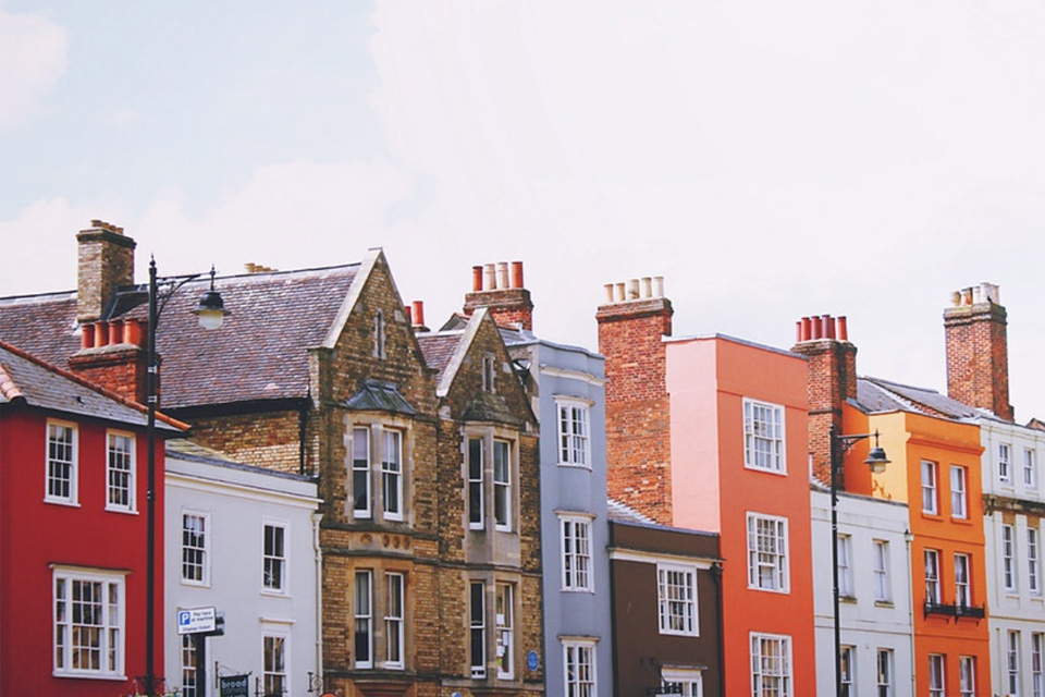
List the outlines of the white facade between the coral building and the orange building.
<svg viewBox="0 0 1045 697">
<path fill-rule="evenodd" d="M 816 613 L 816 694 L 835 694 L 834 583 L 831 494 L 811 491 L 813 603 Z M 838 494 L 839 626 L 841 646 L 851 649 L 855 695 L 914 693 L 910 542 L 906 503 L 851 493 Z M 884 547 L 883 547 L 884 546 Z M 884 552 L 884 553 L 883 553 Z M 881 563 L 884 560 L 884 575 Z M 892 674 L 892 692 L 878 687 L 881 652 Z"/>
</svg>

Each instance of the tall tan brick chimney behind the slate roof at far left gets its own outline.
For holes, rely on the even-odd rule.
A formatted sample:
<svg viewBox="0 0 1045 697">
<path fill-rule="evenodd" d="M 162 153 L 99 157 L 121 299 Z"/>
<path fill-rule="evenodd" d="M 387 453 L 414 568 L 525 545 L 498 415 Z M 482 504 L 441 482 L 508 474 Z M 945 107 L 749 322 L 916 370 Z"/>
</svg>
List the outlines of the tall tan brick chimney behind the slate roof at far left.
<svg viewBox="0 0 1045 697">
<path fill-rule="evenodd" d="M 93 322 L 121 285 L 134 282 L 136 243 L 103 220 L 91 220 L 90 228 L 76 234 L 79 245 L 76 282 L 76 320 Z"/>
</svg>

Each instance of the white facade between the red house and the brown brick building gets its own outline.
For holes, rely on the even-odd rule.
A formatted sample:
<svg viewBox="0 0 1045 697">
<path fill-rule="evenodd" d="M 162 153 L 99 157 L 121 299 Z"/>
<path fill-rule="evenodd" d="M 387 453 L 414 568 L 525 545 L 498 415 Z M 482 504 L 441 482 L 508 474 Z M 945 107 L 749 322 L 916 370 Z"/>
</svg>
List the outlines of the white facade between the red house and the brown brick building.
<svg viewBox="0 0 1045 697">
<path fill-rule="evenodd" d="M 219 694 L 216 664 L 221 675 L 249 673 L 249 693 L 267 694 L 266 648 L 283 653 L 285 694 L 307 694 L 309 673 L 322 671 L 315 481 L 239 465 L 184 441 L 168 443 L 164 480 L 168 687 L 185 678 L 177 611 L 214 607 L 224 613 L 224 635 L 207 639 L 206 685 L 195 697 Z M 279 680 L 270 675 L 271 684 Z"/>
</svg>

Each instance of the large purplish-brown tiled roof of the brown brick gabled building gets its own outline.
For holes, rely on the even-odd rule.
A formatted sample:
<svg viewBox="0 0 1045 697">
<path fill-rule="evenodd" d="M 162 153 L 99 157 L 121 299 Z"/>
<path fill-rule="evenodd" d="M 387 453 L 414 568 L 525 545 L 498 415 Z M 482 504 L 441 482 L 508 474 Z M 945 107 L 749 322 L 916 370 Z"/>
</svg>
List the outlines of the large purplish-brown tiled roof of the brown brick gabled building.
<svg viewBox="0 0 1045 697">
<path fill-rule="evenodd" d="M 214 331 L 199 328 L 190 313 L 209 276 L 186 283 L 170 297 L 158 326 L 163 407 L 305 398 L 306 350 L 323 343 L 359 268 L 218 278 L 216 289 L 232 314 Z M 122 289 L 111 315 L 145 320 L 143 288 Z M 75 293 L 0 298 L 0 339 L 67 366 L 79 348 L 75 318 Z"/>
</svg>

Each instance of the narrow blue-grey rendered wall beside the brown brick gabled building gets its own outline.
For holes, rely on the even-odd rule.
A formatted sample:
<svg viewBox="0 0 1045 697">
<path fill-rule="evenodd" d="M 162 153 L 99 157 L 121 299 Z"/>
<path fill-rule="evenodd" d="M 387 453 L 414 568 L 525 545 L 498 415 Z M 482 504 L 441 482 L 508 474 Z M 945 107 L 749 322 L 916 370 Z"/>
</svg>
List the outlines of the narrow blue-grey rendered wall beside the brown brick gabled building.
<svg viewBox="0 0 1045 697">
<path fill-rule="evenodd" d="M 613 694 L 613 640 L 610 596 L 608 523 L 606 517 L 606 441 L 604 359 L 576 346 L 533 340 L 509 346 L 530 362 L 533 412 L 541 424 L 541 526 L 544 573 L 545 690 L 565 695 L 561 637 L 594 638 L 597 690 Z M 591 468 L 560 464 L 556 398 L 590 404 Z M 593 592 L 563 590 L 563 546 L 557 513 L 591 516 Z"/>
</svg>

